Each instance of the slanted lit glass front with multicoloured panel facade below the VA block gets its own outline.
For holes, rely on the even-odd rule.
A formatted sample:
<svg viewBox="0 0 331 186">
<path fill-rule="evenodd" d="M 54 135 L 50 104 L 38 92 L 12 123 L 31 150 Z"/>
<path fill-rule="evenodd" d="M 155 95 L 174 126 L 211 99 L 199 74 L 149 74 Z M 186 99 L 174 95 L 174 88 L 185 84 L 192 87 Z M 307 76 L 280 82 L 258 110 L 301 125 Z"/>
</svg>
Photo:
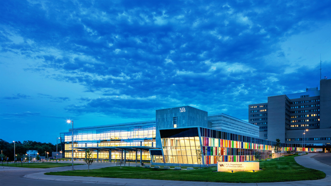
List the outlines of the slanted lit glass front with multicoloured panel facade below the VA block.
<svg viewBox="0 0 331 186">
<path fill-rule="evenodd" d="M 202 148 L 201 164 L 217 162 L 255 161 L 256 151 L 261 159 L 269 158 L 276 142 L 208 128 L 160 130 L 164 160 L 169 164 L 200 164 L 198 151 Z M 281 143 L 282 151 L 297 150 L 300 144 Z M 197 151 L 198 150 L 198 151 Z M 157 162 L 152 156 L 153 163 Z"/>
</svg>

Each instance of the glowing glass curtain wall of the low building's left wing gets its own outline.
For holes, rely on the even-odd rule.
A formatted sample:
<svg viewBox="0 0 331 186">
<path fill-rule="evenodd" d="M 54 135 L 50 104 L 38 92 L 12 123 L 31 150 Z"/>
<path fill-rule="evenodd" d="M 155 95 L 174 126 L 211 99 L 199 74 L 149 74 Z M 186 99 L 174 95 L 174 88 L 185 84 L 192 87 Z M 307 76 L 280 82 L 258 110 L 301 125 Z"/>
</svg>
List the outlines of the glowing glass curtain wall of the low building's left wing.
<svg viewBox="0 0 331 186">
<path fill-rule="evenodd" d="M 85 150 L 79 147 L 155 147 L 155 122 L 148 124 L 119 124 L 118 126 L 87 127 L 73 130 L 73 157 L 85 158 Z M 61 133 L 61 143 L 64 145 L 65 158 L 72 157 L 72 132 Z M 99 159 L 109 159 L 108 151 L 99 151 Z M 124 152 L 123 152 L 124 153 Z M 112 159 L 121 159 L 120 151 L 112 151 Z M 126 152 L 126 159 L 135 160 L 135 151 Z M 142 152 L 142 160 L 150 160 L 149 152 Z M 97 158 L 97 151 L 92 151 L 92 157 Z M 124 155 L 123 155 L 124 158 Z M 138 151 L 138 160 L 140 152 Z"/>
</svg>

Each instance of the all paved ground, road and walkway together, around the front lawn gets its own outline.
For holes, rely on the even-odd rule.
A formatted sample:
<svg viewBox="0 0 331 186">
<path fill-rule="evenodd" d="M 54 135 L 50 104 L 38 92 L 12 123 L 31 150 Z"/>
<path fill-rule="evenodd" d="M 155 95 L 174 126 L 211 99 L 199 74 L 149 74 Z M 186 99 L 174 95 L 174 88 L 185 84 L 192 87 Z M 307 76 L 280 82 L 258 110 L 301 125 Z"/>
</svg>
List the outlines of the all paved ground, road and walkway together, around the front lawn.
<svg viewBox="0 0 331 186">
<path fill-rule="evenodd" d="M 273 182 L 273 183 L 219 183 L 219 182 L 195 182 L 195 181 L 171 181 L 171 180 L 152 180 L 152 179 L 126 179 L 126 178 L 101 178 L 101 177 L 83 177 L 83 176 L 57 176 L 57 175 L 45 175 L 45 172 L 65 171 L 71 170 L 70 167 L 55 167 L 47 169 L 37 168 L 21 168 L 21 167 L 1 167 L 0 166 L 0 185 L 20 185 L 10 184 L 8 182 L 16 182 L 18 180 L 23 182 L 24 185 L 87 185 L 87 184 L 100 184 L 100 185 L 113 185 L 113 186 L 331 186 L 331 166 L 328 165 L 331 160 L 330 153 L 309 153 L 304 156 L 295 157 L 295 161 L 308 168 L 313 168 L 325 172 L 326 177 L 320 180 L 306 180 L 306 181 L 290 181 L 290 182 Z M 61 162 L 68 163 L 68 162 Z M 80 163 L 80 161 L 75 161 Z M 136 166 L 139 164 L 130 163 L 130 166 Z M 93 163 L 90 169 L 112 167 L 116 166 L 114 163 Z M 128 164 L 126 164 L 128 166 Z M 87 165 L 77 165 L 74 169 L 87 169 Z M 32 173 L 31 173 L 32 172 Z M 24 174 L 26 173 L 26 174 Z M 24 175 L 22 175 L 24 174 Z M 11 175 L 16 175 L 20 179 L 9 180 Z M 15 177 L 15 176 L 14 176 Z M 30 178 L 27 181 L 26 178 Z M 13 179 L 13 178 L 12 178 Z M 38 182 L 41 181 L 41 182 Z M 47 182 L 45 182 L 47 181 Z M 27 184 L 28 183 L 28 184 Z M 31 183 L 31 184 L 29 184 Z M 62 184 L 65 183 L 65 184 Z"/>
</svg>

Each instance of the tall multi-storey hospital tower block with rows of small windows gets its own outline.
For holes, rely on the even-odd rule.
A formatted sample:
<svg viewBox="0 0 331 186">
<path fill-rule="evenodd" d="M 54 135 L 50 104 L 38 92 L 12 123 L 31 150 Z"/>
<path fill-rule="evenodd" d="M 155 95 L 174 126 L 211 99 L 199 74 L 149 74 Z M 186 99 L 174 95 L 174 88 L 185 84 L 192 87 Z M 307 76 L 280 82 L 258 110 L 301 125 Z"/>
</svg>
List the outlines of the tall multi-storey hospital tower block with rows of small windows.
<svg viewBox="0 0 331 186">
<path fill-rule="evenodd" d="M 268 102 L 248 106 L 249 123 L 260 128 L 260 138 L 301 143 L 307 151 L 330 152 L 331 79 L 320 90 L 269 96 Z M 306 144 L 306 145 L 304 145 Z"/>
</svg>

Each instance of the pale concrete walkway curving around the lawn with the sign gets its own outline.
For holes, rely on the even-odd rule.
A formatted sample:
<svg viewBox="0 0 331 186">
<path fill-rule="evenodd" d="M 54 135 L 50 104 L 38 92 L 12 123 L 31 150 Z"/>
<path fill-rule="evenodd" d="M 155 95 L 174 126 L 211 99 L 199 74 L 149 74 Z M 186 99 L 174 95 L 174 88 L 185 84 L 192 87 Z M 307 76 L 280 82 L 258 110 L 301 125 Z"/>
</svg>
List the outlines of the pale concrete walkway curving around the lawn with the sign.
<svg viewBox="0 0 331 186">
<path fill-rule="evenodd" d="M 315 161 L 310 158 L 315 154 L 310 153 L 304 156 L 295 157 L 295 161 L 308 168 L 313 168 L 325 172 L 326 177 L 320 180 L 307 180 L 307 181 L 290 181 L 290 182 L 273 182 L 273 183 L 216 183 L 216 182 L 195 182 L 195 181 L 171 181 L 171 180 L 152 180 L 152 179 L 124 179 L 124 178 L 100 178 L 100 177 L 83 177 L 83 176 L 56 176 L 56 175 L 45 175 L 45 172 L 49 171 L 64 171 L 70 170 L 71 167 L 56 167 L 50 168 L 38 173 L 26 174 L 25 178 L 30 179 L 42 179 L 42 180 L 55 180 L 55 181 L 70 181 L 80 183 L 98 183 L 98 184 L 109 184 L 117 186 L 331 186 L 331 167 Z M 331 157 L 331 156 L 330 156 Z M 76 163 L 79 163 L 78 161 Z M 130 166 L 135 166 L 135 163 L 131 163 Z M 137 164 L 138 165 L 138 164 Z M 101 168 L 101 167 L 116 166 L 114 163 L 94 163 L 90 168 Z M 86 165 L 74 166 L 75 169 L 87 169 Z"/>
</svg>

